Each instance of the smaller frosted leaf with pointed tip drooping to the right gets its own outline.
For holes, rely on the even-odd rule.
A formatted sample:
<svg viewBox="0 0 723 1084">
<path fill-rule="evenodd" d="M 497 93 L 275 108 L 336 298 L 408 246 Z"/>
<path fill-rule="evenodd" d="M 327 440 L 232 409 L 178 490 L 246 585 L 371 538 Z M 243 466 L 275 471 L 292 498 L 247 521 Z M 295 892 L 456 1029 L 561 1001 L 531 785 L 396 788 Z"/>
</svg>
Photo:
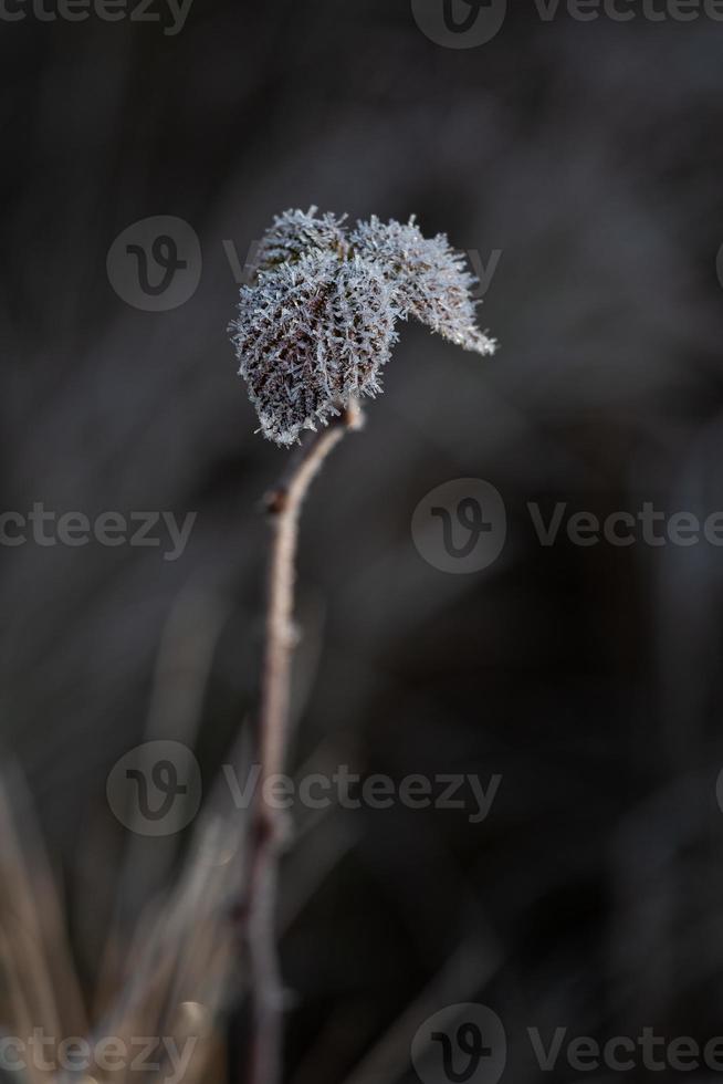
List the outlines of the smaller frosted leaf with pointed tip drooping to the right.
<svg viewBox="0 0 723 1084">
<path fill-rule="evenodd" d="M 464 350 L 494 353 L 494 340 L 476 326 L 472 290 L 478 280 L 467 268 L 465 254 L 452 249 L 444 233 L 426 238 L 413 217 L 401 225 L 373 216 L 357 223 L 349 240 L 353 250 L 376 262 L 394 284 L 404 317 L 416 316 Z"/>
</svg>

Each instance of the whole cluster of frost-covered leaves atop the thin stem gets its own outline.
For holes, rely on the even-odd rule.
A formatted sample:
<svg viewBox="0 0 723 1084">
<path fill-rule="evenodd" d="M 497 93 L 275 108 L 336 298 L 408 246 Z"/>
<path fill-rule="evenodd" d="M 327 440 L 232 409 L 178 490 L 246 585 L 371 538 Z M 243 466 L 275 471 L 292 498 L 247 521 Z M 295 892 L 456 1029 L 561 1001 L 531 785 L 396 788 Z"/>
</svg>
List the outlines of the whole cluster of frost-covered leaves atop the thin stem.
<svg viewBox="0 0 723 1084">
<path fill-rule="evenodd" d="M 422 237 L 413 218 L 357 222 L 289 210 L 256 253 L 230 325 L 261 431 L 279 445 L 326 425 L 353 397 L 381 390 L 395 322 L 412 315 L 465 350 L 491 354 L 476 326 L 476 280 L 444 234 Z"/>
</svg>

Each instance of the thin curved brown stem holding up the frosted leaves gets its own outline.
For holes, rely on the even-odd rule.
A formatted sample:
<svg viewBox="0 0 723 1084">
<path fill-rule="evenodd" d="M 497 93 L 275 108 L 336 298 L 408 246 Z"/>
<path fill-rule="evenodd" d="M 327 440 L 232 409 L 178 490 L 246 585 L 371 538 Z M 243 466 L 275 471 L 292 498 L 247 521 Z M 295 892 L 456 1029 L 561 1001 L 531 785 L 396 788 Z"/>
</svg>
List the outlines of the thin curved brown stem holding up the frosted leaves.
<svg viewBox="0 0 723 1084">
<path fill-rule="evenodd" d="M 283 984 L 276 951 L 276 895 L 285 816 L 283 811 L 266 805 L 263 795 L 265 781 L 284 771 L 289 743 L 298 523 L 308 488 L 324 460 L 347 430 L 360 425 L 359 407 L 352 402 L 338 418 L 298 450 L 287 473 L 265 498 L 273 541 L 259 720 L 261 774 L 251 826 L 248 896 L 253 1009 L 251 1084 L 279 1084 L 282 1072 Z"/>
</svg>

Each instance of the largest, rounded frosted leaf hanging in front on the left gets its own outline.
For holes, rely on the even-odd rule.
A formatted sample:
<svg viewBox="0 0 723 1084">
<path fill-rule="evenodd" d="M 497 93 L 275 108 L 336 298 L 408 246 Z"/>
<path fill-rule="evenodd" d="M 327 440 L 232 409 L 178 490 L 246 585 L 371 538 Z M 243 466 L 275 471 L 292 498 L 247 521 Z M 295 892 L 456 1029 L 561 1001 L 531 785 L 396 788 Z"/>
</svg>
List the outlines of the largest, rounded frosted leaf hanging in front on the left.
<svg viewBox="0 0 723 1084">
<path fill-rule="evenodd" d="M 264 436 L 293 444 L 380 392 L 397 315 L 378 268 L 318 249 L 242 286 L 232 338 Z"/>
</svg>

